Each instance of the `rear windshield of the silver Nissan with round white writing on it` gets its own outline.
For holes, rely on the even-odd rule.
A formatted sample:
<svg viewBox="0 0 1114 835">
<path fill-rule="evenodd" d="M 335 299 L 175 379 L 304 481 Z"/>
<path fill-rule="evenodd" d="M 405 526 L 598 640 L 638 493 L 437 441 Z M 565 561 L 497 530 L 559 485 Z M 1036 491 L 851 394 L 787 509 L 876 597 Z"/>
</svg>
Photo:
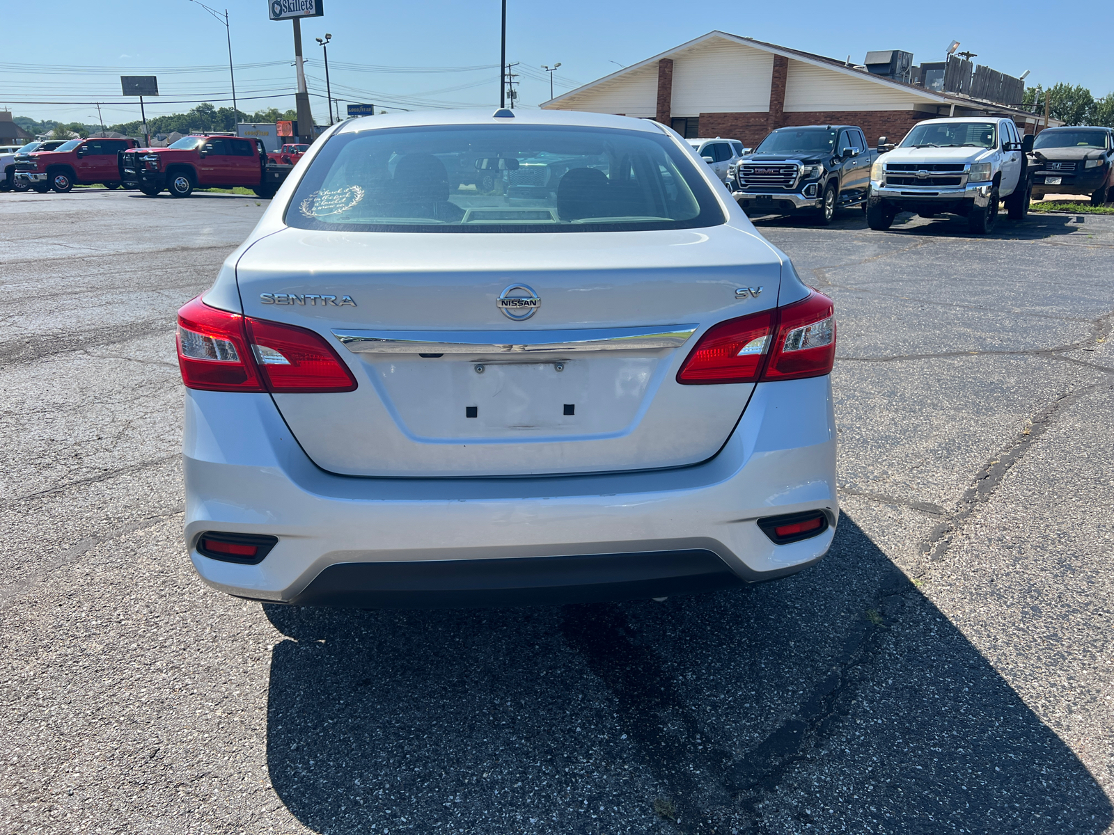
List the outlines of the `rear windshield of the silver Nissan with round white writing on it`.
<svg viewBox="0 0 1114 835">
<path fill-rule="evenodd" d="M 434 126 L 329 139 L 286 209 L 304 229 L 624 232 L 724 223 L 664 134 Z"/>
</svg>

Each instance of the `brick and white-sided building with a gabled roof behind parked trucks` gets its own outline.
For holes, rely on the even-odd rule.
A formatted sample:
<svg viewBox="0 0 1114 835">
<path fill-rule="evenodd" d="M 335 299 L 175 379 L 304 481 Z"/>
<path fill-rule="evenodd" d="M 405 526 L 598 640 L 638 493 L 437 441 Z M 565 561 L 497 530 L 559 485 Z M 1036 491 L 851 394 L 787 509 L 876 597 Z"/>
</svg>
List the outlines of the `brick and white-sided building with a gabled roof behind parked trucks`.
<svg viewBox="0 0 1114 835">
<path fill-rule="evenodd" d="M 730 137 L 754 147 L 792 125 L 858 125 L 868 141 L 900 141 L 941 116 L 1038 119 L 1014 108 L 877 76 L 852 63 L 713 31 L 541 105 L 656 119 L 682 136 Z"/>
</svg>

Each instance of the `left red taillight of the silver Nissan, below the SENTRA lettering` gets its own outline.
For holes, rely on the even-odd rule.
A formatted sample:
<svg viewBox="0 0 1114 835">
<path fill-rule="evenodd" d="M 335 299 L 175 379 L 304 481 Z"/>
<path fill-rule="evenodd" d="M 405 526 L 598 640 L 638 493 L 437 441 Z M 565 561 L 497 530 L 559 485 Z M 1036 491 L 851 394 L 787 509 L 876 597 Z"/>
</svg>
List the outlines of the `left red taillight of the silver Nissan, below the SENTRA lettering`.
<svg viewBox="0 0 1114 835">
<path fill-rule="evenodd" d="M 351 392 L 355 377 L 313 331 L 218 311 L 201 301 L 178 311 L 178 365 L 187 389 Z"/>
</svg>

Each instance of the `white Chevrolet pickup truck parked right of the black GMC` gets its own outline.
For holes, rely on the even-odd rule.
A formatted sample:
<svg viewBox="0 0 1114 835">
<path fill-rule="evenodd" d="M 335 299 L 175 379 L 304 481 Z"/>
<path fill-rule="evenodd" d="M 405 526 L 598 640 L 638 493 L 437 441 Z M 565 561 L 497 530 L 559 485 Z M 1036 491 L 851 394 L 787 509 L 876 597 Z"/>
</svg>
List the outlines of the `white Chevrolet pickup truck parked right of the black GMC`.
<svg viewBox="0 0 1114 835">
<path fill-rule="evenodd" d="M 882 140 L 879 140 L 879 145 Z M 967 218 L 970 232 L 985 235 L 1005 202 L 1012 220 L 1028 214 L 1033 177 L 1024 139 L 1012 119 L 971 117 L 928 119 L 870 170 L 867 225 L 888 229 L 899 212 L 921 217 L 950 213 Z"/>
</svg>

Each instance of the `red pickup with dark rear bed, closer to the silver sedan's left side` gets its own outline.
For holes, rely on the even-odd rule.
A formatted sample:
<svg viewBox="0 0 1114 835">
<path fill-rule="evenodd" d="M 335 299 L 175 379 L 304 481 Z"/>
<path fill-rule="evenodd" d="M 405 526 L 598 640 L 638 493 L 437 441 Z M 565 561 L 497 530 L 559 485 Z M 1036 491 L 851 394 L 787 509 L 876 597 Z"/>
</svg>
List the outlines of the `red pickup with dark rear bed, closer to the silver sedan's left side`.
<svg viewBox="0 0 1114 835">
<path fill-rule="evenodd" d="M 136 148 L 120 157 L 124 185 L 154 197 L 164 188 L 188 197 L 195 188 L 251 188 L 274 197 L 291 166 L 273 165 L 258 139 L 184 136 L 166 148 Z"/>
</svg>

